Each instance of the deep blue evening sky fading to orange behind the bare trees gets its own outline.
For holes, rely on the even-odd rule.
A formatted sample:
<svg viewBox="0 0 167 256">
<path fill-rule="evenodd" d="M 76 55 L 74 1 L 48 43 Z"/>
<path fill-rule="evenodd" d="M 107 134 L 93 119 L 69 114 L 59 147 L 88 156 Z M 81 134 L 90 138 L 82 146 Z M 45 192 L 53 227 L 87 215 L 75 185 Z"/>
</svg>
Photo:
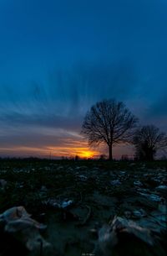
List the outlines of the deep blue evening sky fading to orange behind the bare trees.
<svg viewBox="0 0 167 256">
<path fill-rule="evenodd" d="M 167 132 L 166 13 L 167 0 L 0 0 L 0 156 L 105 153 L 80 131 L 106 98 Z"/>
</svg>

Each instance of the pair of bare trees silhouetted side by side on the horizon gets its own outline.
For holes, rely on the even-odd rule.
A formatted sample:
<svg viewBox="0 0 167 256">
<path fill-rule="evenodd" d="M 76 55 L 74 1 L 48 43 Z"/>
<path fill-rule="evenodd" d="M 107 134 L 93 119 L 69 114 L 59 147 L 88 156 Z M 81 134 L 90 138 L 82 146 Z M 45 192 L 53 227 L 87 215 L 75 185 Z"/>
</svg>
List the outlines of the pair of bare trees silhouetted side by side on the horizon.
<svg viewBox="0 0 167 256">
<path fill-rule="evenodd" d="M 139 119 L 124 102 L 115 99 L 97 102 L 86 113 L 81 133 L 90 146 L 106 144 L 109 159 L 113 159 L 113 146 L 134 144 L 135 159 L 153 160 L 159 149 L 167 147 L 165 133 L 154 125 L 139 126 Z"/>
</svg>

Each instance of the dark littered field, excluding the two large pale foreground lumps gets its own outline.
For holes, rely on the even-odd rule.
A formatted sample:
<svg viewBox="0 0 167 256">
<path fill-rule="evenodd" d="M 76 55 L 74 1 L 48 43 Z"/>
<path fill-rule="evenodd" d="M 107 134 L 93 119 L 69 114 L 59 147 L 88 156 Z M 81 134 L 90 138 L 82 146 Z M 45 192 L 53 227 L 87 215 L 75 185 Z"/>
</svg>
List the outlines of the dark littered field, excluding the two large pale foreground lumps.
<svg viewBox="0 0 167 256">
<path fill-rule="evenodd" d="M 47 225 L 51 255 L 90 255 L 97 231 L 115 216 L 165 229 L 166 170 L 166 161 L 1 159 L 0 214 L 24 206 Z"/>
</svg>

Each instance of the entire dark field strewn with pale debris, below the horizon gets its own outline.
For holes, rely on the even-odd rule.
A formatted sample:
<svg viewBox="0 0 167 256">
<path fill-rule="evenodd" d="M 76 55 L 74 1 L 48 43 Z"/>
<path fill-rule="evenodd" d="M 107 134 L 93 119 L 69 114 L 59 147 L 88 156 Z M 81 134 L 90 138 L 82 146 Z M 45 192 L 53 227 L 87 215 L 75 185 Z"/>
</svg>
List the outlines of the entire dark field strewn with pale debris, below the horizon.
<svg viewBox="0 0 167 256">
<path fill-rule="evenodd" d="M 0 256 L 165 255 L 166 170 L 165 161 L 1 160 Z"/>
</svg>

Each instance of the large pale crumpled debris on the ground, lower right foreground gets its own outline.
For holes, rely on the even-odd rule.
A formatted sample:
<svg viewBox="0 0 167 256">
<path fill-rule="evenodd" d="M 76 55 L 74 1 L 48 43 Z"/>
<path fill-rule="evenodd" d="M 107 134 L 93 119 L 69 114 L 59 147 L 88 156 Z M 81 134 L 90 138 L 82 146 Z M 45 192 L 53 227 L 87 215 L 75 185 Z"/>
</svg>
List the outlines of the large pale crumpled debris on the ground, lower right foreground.
<svg viewBox="0 0 167 256">
<path fill-rule="evenodd" d="M 99 229 L 99 239 L 94 249 L 97 256 L 165 255 L 154 230 L 136 222 L 114 217 L 113 222 Z"/>
</svg>

